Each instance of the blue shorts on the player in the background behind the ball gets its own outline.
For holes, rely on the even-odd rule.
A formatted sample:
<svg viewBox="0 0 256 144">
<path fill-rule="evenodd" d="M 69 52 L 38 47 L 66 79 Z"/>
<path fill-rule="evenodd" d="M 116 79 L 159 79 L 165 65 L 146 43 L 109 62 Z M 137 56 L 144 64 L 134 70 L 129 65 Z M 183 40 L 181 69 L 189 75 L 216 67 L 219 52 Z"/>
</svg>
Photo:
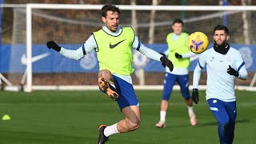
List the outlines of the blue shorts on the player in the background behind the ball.
<svg viewBox="0 0 256 144">
<path fill-rule="evenodd" d="M 164 80 L 162 99 L 166 100 L 166 101 L 169 100 L 170 94 L 173 91 L 175 82 L 178 82 L 178 85 L 181 87 L 181 92 L 182 92 L 183 98 L 185 98 L 186 100 L 190 99 L 189 74 L 176 75 L 176 74 L 170 74 L 170 73 L 166 73 L 166 77 Z"/>
</svg>

